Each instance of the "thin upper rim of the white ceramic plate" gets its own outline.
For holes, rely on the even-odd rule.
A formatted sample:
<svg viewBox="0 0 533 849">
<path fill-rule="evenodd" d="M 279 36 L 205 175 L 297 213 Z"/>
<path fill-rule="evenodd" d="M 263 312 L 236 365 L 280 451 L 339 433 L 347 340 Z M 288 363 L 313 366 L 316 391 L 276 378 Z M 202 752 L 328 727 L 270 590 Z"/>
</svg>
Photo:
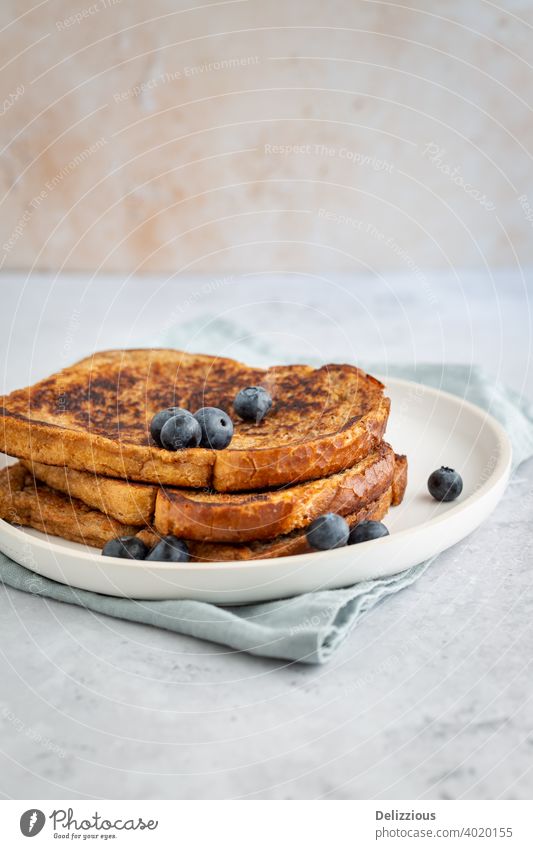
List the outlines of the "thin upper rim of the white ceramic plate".
<svg viewBox="0 0 533 849">
<path fill-rule="evenodd" d="M 490 428 L 495 432 L 495 434 L 498 438 L 498 441 L 500 443 L 500 446 L 501 446 L 500 456 L 498 457 L 496 465 L 492 469 L 490 475 L 481 484 L 481 486 L 479 486 L 473 493 L 471 493 L 469 496 L 467 496 L 467 498 L 458 502 L 454 507 L 447 510 L 446 513 L 444 513 L 443 515 L 434 516 L 431 519 L 427 519 L 425 522 L 422 522 L 416 528 L 405 528 L 404 530 L 395 532 L 391 536 L 382 537 L 378 540 L 368 541 L 368 542 L 372 542 L 373 545 L 375 545 L 376 542 L 377 542 L 382 546 L 387 546 L 387 545 L 390 546 L 392 544 L 395 544 L 398 541 L 404 540 L 406 538 L 406 536 L 408 536 L 408 535 L 412 535 L 413 533 L 426 531 L 429 527 L 435 527 L 437 525 L 442 524 L 443 522 L 449 521 L 451 517 L 453 517 L 454 515 L 456 515 L 459 512 L 462 512 L 465 509 L 465 507 L 468 507 L 471 504 L 473 504 L 474 502 L 480 501 L 481 499 L 483 499 L 484 497 L 489 495 L 489 493 L 492 492 L 492 490 L 494 488 L 496 488 L 498 485 L 500 485 L 502 483 L 502 481 L 504 482 L 504 485 L 505 485 L 506 482 L 507 482 L 507 479 L 510 476 L 510 472 L 511 472 L 513 450 L 512 450 L 511 441 L 510 441 L 509 436 L 507 434 L 507 431 L 505 430 L 503 425 L 500 424 L 500 422 L 496 418 L 494 418 L 494 416 L 491 413 L 489 413 L 487 410 L 484 410 L 482 407 L 479 407 L 477 404 L 474 404 L 471 401 L 467 401 L 466 399 L 461 398 L 460 395 L 456 395 L 453 392 L 448 392 L 448 391 L 443 390 L 443 389 L 437 389 L 436 387 L 429 386 L 425 383 L 418 383 L 417 381 L 414 381 L 414 380 L 408 380 L 407 378 L 400 378 L 400 377 L 386 378 L 386 377 L 383 377 L 383 376 L 378 376 L 378 379 L 381 380 L 383 383 L 385 383 L 385 388 L 387 388 L 387 384 L 389 386 L 394 384 L 394 385 L 397 385 L 397 386 L 400 386 L 400 387 L 413 387 L 413 386 L 420 387 L 424 390 L 425 393 L 428 393 L 429 395 L 432 395 L 432 396 L 437 397 L 437 398 L 445 397 L 448 400 L 452 401 L 453 403 L 458 404 L 461 407 L 468 409 L 473 415 L 477 416 L 478 418 L 483 419 L 483 422 L 490 426 Z M 15 539 L 22 537 L 22 538 L 25 538 L 26 541 L 28 541 L 28 534 L 27 534 L 26 530 L 24 530 L 23 528 L 19 528 L 16 525 L 11 525 L 9 522 L 6 522 L 4 519 L 0 519 L 0 527 L 2 528 L 2 531 L 4 533 L 7 533 L 8 536 L 12 536 Z M 40 531 L 39 533 L 42 534 L 42 538 L 36 537 L 36 536 L 33 536 L 33 535 L 31 537 L 29 537 L 31 539 L 32 545 L 34 545 L 36 548 L 47 549 L 48 552 L 54 553 L 54 554 L 59 555 L 59 556 L 62 556 L 63 554 L 65 554 L 65 550 L 62 548 L 62 546 L 60 544 L 52 541 L 53 537 L 51 537 L 51 538 L 48 537 L 48 535 L 44 534 L 44 532 L 42 532 L 42 531 Z M 66 542 L 69 542 L 69 540 L 66 540 Z M 368 545 L 368 542 L 360 543 L 357 547 L 358 552 L 365 550 L 365 547 Z M 330 550 L 330 551 L 322 552 L 322 553 L 327 554 L 330 557 L 331 556 L 335 557 L 335 555 L 339 555 L 342 550 L 343 549 L 339 549 L 338 551 Z M 320 552 L 317 552 L 317 553 L 320 553 Z M 127 559 L 123 559 L 123 558 L 120 558 L 120 557 L 109 557 L 107 555 L 99 553 L 98 549 L 96 549 L 96 548 L 94 549 L 94 552 L 81 550 L 81 551 L 76 551 L 76 552 L 69 552 L 69 554 L 74 554 L 76 556 L 76 558 L 79 558 L 80 560 L 84 560 L 84 561 L 88 561 L 88 562 L 94 562 L 96 557 L 97 557 L 98 563 L 102 564 L 102 565 L 106 565 L 106 564 L 111 565 L 112 564 L 115 567 L 123 566 L 123 567 L 128 568 L 128 569 L 131 569 L 131 568 L 141 569 L 141 570 L 146 569 L 146 562 L 144 560 L 127 560 Z M 257 559 L 257 560 L 224 560 L 224 561 L 216 561 L 216 562 L 215 561 L 213 561 L 213 562 L 187 561 L 186 563 L 165 563 L 165 562 L 157 561 L 157 562 L 153 563 L 153 568 L 157 568 L 158 570 L 163 570 L 163 571 L 171 571 L 171 572 L 176 572 L 176 571 L 179 572 L 179 571 L 184 571 L 185 569 L 191 569 L 191 568 L 194 569 L 195 571 L 197 570 L 197 571 L 202 571 L 202 572 L 208 572 L 208 571 L 212 571 L 212 570 L 220 571 L 221 566 L 223 566 L 224 569 L 228 569 L 228 570 L 238 570 L 238 569 L 249 570 L 249 569 L 253 569 L 253 568 L 264 567 L 265 564 L 269 564 L 269 565 L 279 564 L 280 568 L 282 568 L 284 564 L 287 565 L 287 564 L 290 564 L 290 563 L 297 563 L 297 562 L 301 561 L 301 557 L 302 557 L 301 554 L 291 554 L 291 555 L 287 555 L 287 556 L 284 556 L 284 557 L 264 557 L 264 558 Z M 31 567 L 27 567 L 27 568 L 31 568 Z"/>
</svg>

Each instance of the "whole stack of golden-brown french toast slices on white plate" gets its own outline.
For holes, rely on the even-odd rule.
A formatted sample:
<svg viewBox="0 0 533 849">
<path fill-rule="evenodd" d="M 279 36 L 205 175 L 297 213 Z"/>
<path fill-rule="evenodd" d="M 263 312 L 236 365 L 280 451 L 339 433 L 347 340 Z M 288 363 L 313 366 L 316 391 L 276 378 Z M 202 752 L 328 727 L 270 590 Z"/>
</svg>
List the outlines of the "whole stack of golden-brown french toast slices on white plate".
<svg viewBox="0 0 533 849">
<path fill-rule="evenodd" d="M 254 420 L 239 392 L 271 401 Z M 350 365 L 252 368 L 167 349 L 96 353 L 0 399 L 0 518 L 103 548 L 172 536 L 198 561 L 309 552 L 325 514 L 350 528 L 400 503 L 407 460 L 384 441 L 385 387 Z M 169 408 L 223 411 L 224 448 L 167 447 Z M 170 432 L 170 431 L 169 431 Z"/>
</svg>

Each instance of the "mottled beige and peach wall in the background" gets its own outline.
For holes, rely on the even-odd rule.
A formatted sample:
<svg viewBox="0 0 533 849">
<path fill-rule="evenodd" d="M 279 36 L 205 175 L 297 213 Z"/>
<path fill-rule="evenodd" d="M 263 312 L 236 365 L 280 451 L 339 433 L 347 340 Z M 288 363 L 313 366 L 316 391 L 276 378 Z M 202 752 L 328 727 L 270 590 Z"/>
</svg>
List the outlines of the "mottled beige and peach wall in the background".
<svg viewBox="0 0 533 849">
<path fill-rule="evenodd" d="M 533 259 L 533 5 L 3 0 L 4 269 Z"/>
</svg>

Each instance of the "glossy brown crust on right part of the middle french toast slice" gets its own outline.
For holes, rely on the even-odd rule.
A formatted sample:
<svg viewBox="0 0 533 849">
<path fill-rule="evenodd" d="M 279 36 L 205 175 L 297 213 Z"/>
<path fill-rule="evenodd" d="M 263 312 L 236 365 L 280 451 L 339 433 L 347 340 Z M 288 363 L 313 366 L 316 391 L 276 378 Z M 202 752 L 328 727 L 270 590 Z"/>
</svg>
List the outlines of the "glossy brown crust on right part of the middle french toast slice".
<svg viewBox="0 0 533 849">
<path fill-rule="evenodd" d="M 343 472 L 318 481 L 260 493 L 160 490 L 155 529 L 165 535 L 211 542 L 272 539 L 304 528 L 323 513 L 355 513 L 392 485 L 394 452 L 383 442 Z"/>
</svg>

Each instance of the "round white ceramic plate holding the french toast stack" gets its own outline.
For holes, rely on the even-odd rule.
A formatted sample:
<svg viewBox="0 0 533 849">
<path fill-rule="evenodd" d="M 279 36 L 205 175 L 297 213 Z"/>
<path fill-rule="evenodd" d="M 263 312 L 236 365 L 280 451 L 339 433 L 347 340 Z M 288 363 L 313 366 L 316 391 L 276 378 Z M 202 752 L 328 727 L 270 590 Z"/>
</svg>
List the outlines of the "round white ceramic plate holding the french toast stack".
<svg viewBox="0 0 533 849">
<path fill-rule="evenodd" d="M 34 572 L 80 589 L 130 598 L 188 598 L 219 604 L 265 601 L 393 575 L 449 548 L 496 507 L 511 468 L 511 445 L 483 410 L 455 395 L 387 380 L 387 440 L 409 458 L 401 506 L 385 522 L 390 536 L 335 551 L 270 560 L 145 565 L 0 521 L 0 549 Z M 426 481 L 441 465 L 464 481 L 460 498 L 439 504 Z"/>
</svg>

